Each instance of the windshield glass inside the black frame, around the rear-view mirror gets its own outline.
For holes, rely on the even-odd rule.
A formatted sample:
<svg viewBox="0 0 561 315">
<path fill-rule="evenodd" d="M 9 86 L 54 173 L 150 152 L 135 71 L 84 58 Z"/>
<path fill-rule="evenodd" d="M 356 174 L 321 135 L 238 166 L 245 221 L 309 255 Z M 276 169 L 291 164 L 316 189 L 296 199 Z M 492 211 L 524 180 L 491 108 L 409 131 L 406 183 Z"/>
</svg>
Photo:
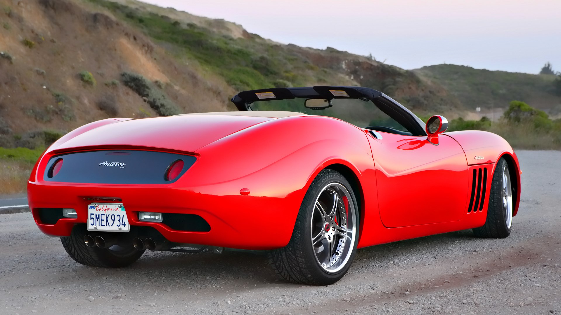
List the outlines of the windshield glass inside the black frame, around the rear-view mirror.
<svg viewBox="0 0 561 315">
<path fill-rule="evenodd" d="M 304 98 L 290 100 L 255 101 L 250 104 L 252 110 L 286 110 L 308 115 L 321 115 L 339 118 L 355 126 L 366 128 L 369 126 L 383 126 L 399 131 L 407 131 L 405 127 L 382 112 L 371 101 L 361 99 L 333 99 L 333 106 L 325 109 L 310 109 L 304 107 Z"/>
</svg>

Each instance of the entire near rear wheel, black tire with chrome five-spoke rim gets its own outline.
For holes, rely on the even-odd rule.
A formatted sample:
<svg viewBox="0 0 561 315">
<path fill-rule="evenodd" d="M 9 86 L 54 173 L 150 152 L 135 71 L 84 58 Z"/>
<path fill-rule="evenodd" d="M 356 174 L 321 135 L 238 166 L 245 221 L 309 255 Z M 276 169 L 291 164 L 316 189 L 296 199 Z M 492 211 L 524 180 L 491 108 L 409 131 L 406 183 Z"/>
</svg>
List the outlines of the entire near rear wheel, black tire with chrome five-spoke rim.
<svg viewBox="0 0 561 315">
<path fill-rule="evenodd" d="M 351 266 L 358 243 L 358 207 L 346 178 L 322 170 L 298 212 L 292 238 L 269 253 L 277 275 L 295 283 L 329 285 Z"/>
</svg>

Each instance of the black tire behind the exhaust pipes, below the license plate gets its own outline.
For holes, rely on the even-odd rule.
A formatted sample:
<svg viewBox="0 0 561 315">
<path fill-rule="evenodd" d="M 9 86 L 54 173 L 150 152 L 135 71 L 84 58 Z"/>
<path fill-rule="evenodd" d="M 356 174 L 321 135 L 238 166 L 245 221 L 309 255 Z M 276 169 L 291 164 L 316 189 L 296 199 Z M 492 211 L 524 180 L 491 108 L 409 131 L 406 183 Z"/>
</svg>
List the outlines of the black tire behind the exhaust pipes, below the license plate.
<svg viewBox="0 0 561 315">
<path fill-rule="evenodd" d="M 61 237 L 61 242 L 66 252 L 73 260 L 82 265 L 91 267 L 120 268 L 131 265 L 137 261 L 144 250 L 137 251 L 132 246 L 122 247 L 114 245 L 110 248 L 88 247 L 84 236 L 88 234 L 84 224 L 77 224 L 72 229 L 69 237 Z"/>
</svg>

